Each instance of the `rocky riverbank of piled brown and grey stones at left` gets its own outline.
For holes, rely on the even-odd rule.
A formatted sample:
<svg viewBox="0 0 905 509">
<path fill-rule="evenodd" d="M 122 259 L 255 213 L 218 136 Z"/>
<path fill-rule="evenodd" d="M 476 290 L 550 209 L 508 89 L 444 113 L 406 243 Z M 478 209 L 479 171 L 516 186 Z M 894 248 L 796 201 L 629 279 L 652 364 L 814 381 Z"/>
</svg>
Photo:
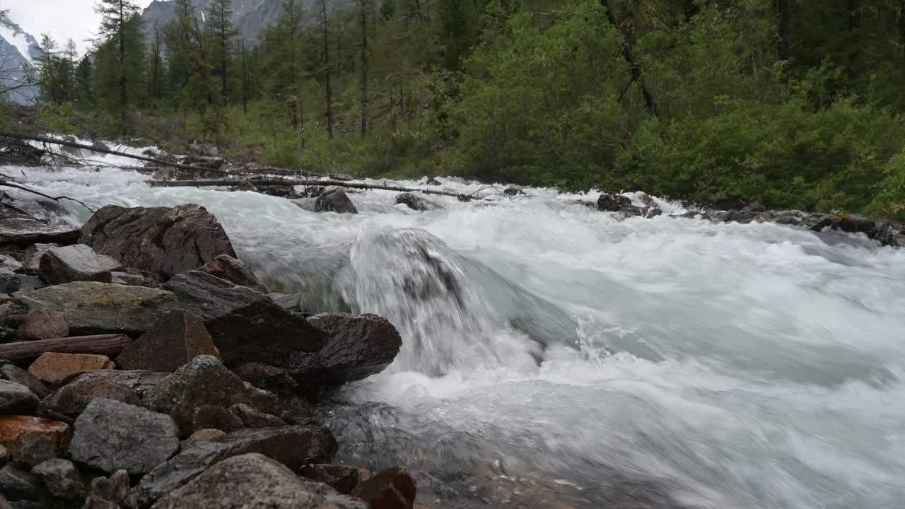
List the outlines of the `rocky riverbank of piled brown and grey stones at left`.
<svg viewBox="0 0 905 509">
<path fill-rule="evenodd" d="M 317 418 L 398 331 L 268 293 L 204 207 L 7 211 L 0 253 L 0 507 L 414 507 Z"/>
</svg>

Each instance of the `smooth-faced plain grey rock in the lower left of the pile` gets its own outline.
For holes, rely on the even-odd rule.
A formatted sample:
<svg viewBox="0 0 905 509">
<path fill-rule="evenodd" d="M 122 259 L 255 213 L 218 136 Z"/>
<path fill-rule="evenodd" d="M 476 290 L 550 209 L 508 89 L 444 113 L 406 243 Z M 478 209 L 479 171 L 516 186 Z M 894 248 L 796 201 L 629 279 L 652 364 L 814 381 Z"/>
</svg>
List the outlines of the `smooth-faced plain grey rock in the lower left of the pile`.
<svg viewBox="0 0 905 509">
<path fill-rule="evenodd" d="M 74 427 L 72 459 L 107 473 L 147 474 L 179 449 L 172 418 L 114 399 L 91 401 Z"/>
</svg>

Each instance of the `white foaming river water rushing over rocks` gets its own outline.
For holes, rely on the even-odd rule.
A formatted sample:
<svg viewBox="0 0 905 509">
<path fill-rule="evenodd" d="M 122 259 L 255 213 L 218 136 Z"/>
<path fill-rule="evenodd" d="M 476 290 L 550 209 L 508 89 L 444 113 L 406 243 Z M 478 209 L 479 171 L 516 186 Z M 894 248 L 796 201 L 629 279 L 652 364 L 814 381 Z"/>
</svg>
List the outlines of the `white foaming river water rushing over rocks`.
<svg viewBox="0 0 905 509">
<path fill-rule="evenodd" d="M 905 501 L 905 251 L 770 224 L 621 220 L 576 203 L 595 193 L 555 189 L 427 197 L 423 213 L 367 191 L 349 195 L 352 216 L 113 168 L 24 173 L 94 207 L 202 204 L 272 290 L 394 322 L 393 365 L 342 389 L 327 418 L 338 461 L 405 466 L 424 507 Z"/>
</svg>

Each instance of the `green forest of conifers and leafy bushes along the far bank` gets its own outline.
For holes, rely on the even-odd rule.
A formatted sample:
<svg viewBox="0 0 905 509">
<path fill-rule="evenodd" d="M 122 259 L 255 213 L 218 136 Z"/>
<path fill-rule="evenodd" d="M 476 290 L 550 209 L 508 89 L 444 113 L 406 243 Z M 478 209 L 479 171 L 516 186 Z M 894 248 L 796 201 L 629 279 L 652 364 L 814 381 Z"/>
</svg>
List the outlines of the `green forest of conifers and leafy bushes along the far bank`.
<svg viewBox="0 0 905 509">
<path fill-rule="evenodd" d="M 101 0 L 84 55 L 44 34 L 48 129 L 905 218 L 902 0 L 283 0 L 258 40 L 231 0 L 176 4 Z"/>
</svg>

